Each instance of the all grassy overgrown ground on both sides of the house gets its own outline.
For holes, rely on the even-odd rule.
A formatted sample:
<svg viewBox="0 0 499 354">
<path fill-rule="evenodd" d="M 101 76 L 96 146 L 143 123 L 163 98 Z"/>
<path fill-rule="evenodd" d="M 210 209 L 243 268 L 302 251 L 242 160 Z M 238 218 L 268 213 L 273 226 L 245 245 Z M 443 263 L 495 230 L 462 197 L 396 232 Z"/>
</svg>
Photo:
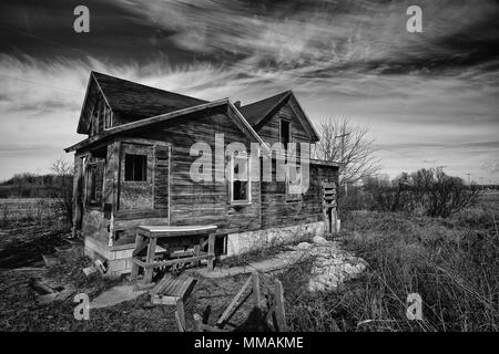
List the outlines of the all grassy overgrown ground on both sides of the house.
<svg viewBox="0 0 499 354">
<path fill-rule="evenodd" d="M 310 294 L 305 288 L 312 264 L 305 261 L 284 273 L 264 274 L 262 289 L 272 289 L 273 277 L 283 281 L 291 331 L 498 331 L 498 220 L 499 195 L 485 196 L 478 206 L 446 219 L 350 211 L 342 220 L 339 240 L 369 264 L 358 279 L 335 292 Z M 50 253 L 68 232 L 57 222 L 8 222 L 0 228 L 0 268 L 40 267 L 40 254 Z M 264 254 L 273 251 L 254 257 Z M 90 321 L 74 320 L 73 296 L 37 304 L 31 278 L 71 283 L 91 299 L 126 283 L 85 278 L 81 269 L 90 263 L 81 258 L 48 270 L 1 270 L 0 331 L 176 331 L 174 309 L 151 305 L 146 295 L 92 310 Z M 245 279 L 200 279 L 187 302 L 187 327 L 192 314 L 208 305 L 211 319 L 217 319 Z M 422 299 L 422 321 L 406 317 L 409 293 Z"/>
</svg>

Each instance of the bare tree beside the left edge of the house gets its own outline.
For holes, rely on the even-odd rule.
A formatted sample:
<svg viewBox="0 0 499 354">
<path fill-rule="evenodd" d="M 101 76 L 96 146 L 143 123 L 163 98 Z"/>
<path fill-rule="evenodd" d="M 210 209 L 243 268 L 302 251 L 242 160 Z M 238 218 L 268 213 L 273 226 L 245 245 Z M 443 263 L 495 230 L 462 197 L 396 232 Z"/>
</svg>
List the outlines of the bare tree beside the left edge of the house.
<svg viewBox="0 0 499 354">
<path fill-rule="evenodd" d="M 52 197 L 57 199 L 67 222 L 71 222 L 73 216 L 73 165 L 62 157 L 57 159 L 51 168 L 55 174 Z"/>
</svg>

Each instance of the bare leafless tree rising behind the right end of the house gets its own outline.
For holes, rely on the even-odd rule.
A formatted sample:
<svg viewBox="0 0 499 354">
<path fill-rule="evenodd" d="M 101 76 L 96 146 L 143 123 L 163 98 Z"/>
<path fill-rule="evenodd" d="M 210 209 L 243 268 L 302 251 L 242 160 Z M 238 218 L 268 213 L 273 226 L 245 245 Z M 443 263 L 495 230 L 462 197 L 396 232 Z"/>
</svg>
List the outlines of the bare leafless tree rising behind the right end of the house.
<svg viewBox="0 0 499 354">
<path fill-rule="evenodd" d="M 326 162 L 342 163 L 339 184 L 354 184 L 379 170 L 373 155 L 373 139 L 368 128 L 350 123 L 349 119 L 324 119 L 318 133 L 320 140 L 315 145 L 314 157 Z"/>
</svg>

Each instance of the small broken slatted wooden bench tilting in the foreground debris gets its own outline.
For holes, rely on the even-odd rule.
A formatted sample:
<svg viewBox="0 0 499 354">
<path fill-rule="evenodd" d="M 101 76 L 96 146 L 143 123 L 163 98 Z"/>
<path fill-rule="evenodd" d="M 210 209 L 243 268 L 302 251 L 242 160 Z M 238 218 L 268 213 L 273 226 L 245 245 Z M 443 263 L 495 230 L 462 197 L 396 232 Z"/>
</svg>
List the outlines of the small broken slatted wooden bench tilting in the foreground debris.
<svg viewBox="0 0 499 354">
<path fill-rule="evenodd" d="M 196 280 L 192 277 L 166 274 L 153 289 L 151 302 L 157 305 L 176 305 L 175 317 L 181 332 L 185 331 L 184 301 L 191 294 Z"/>
</svg>

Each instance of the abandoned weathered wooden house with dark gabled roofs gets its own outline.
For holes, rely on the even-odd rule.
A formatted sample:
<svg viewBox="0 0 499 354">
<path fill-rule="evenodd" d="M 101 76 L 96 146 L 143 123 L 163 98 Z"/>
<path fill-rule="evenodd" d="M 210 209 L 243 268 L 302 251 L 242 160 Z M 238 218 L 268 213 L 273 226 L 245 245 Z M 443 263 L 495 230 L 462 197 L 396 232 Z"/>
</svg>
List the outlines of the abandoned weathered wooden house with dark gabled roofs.
<svg viewBox="0 0 499 354">
<path fill-rule="evenodd" d="M 195 181 L 190 176 L 198 158 L 191 147 L 204 142 L 215 150 L 216 134 L 223 134 L 224 146 L 241 143 L 249 152 L 257 143 L 271 154 L 277 142 L 317 142 L 292 91 L 241 105 L 91 72 L 77 132 L 88 137 L 65 149 L 74 152 L 73 233 L 111 273 L 131 271 L 136 230 L 144 226 L 215 226 L 216 256 L 335 229 L 337 164 L 312 159 L 308 188 L 298 191 L 288 180 L 242 183 L 230 174 L 223 181 Z M 214 162 L 215 169 L 233 168 L 234 156 L 226 155 L 225 166 Z M 275 157 L 268 156 L 261 152 L 258 158 L 271 158 L 275 174 Z M 244 164 L 244 156 L 237 158 Z M 176 249 L 163 244 L 156 251 L 174 258 L 179 250 L 205 246 L 186 237 Z"/>
</svg>

